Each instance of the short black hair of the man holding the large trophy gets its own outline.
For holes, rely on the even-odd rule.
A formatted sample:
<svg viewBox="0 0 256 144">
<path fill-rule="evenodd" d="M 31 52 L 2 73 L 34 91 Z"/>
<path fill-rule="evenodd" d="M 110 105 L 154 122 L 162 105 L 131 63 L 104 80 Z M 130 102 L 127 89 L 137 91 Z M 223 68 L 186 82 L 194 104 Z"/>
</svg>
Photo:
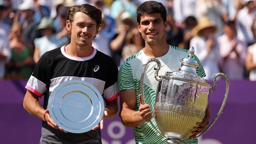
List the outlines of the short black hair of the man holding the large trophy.
<svg viewBox="0 0 256 144">
<path fill-rule="evenodd" d="M 137 9 L 137 22 L 141 22 L 141 16 L 145 14 L 160 13 L 163 22 L 166 21 L 166 9 L 161 2 L 153 0 L 144 2 Z"/>
</svg>

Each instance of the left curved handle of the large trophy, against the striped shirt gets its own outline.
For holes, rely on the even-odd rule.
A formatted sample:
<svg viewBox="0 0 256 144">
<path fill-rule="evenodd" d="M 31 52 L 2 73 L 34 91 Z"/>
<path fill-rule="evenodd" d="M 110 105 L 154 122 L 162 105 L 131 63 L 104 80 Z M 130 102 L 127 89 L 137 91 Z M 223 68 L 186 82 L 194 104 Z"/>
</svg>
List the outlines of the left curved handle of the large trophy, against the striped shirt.
<svg viewBox="0 0 256 144">
<path fill-rule="evenodd" d="M 157 66 L 157 69 L 156 69 L 156 72 L 155 72 L 155 79 L 156 79 L 157 81 L 161 81 L 161 80 L 162 80 L 162 78 L 161 78 L 160 76 L 158 76 L 158 72 L 159 72 L 159 70 L 160 70 L 160 68 L 161 68 L 161 63 L 160 63 L 160 61 L 159 61 L 158 59 L 156 59 L 156 58 L 148 59 L 147 63 L 143 66 L 143 71 L 142 71 L 142 73 L 141 73 L 141 101 L 142 101 L 142 104 L 143 104 L 143 105 L 145 104 L 144 89 L 143 89 L 144 76 L 145 76 L 145 72 L 146 72 L 146 70 L 147 70 L 148 64 L 151 63 L 151 62 L 153 62 L 153 61 L 156 62 L 157 65 L 158 65 L 158 66 Z M 162 134 L 160 133 L 160 131 L 158 131 L 158 129 L 156 129 L 156 127 L 153 125 L 152 121 L 150 120 L 149 122 L 150 122 L 151 126 L 152 126 L 160 135 L 162 135 Z"/>
</svg>

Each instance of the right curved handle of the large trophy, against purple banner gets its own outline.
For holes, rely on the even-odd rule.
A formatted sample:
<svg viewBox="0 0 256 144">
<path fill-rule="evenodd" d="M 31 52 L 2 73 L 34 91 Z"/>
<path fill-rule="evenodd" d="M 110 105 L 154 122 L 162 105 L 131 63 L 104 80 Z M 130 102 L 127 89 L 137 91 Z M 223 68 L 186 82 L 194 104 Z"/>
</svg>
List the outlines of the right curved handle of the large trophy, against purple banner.
<svg viewBox="0 0 256 144">
<path fill-rule="evenodd" d="M 196 139 L 196 138 L 198 138 L 198 137 L 204 135 L 204 133 L 206 133 L 206 132 L 213 126 L 213 124 L 215 124 L 215 122 L 219 119 L 219 116 L 222 114 L 222 111 L 223 111 L 224 106 L 225 106 L 225 104 L 226 104 L 226 100 L 227 100 L 227 98 L 228 98 L 228 89 L 229 89 L 230 82 L 229 82 L 228 77 L 226 76 L 226 74 L 223 74 L 223 73 L 221 73 L 221 72 L 215 74 L 215 75 L 213 76 L 213 87 L 211 88 L 211 92 L 214 92 L 214 91 L 215 91 L 215 88 L 216 88 L 216 79 L 217 79 L 217 77 L 221 77 L 221 78 L 225 79 L 225 81 L 226 81 L 226 92 L 225 92 L 225 95 L 224 95 L 223 102 L 222 102 L 222 104 L 221 104 L 221 108 L 219 109 L 219 112 L 216 114 L 216 116 L 215 116 L 215 118 L 213 119 L 213 121 L 211 122 L 211 124 L 210 124 L 208 127 L 206 127 L 206 129 L 205 129 L 202 133 L 200 133 L 197 137 L 192 138 L 192 139 L 189 139 L 189 140 L 193 140 L 193 139 Z M 189 141 L 189 140 L 184 140 L 184 141 Z M 184 142 L 184 141 L 183 141 L 183 142 Z"/>
</svg>

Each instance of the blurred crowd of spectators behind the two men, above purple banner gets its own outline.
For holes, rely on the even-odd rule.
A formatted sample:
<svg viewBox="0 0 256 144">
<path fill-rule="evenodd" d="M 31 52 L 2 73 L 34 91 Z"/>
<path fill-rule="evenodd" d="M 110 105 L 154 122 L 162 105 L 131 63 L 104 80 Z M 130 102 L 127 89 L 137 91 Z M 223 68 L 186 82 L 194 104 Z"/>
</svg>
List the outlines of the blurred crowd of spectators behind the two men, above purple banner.
<svg viewBox="0 0 256 144">
<path fill-rule="evenodd" d="M 145 46 L 136 10 L 146 0 L 0 0 L 0 79 L 26 79 L 46 51 L 69 44 L 70 6 L 91 4 L 102 11 L 93 47 L 120 67 Z M 256 81 L 256 0 L 156 0 L 167 9 L 168 44 L 191 46 L 206 79 Z"/>
</svg>

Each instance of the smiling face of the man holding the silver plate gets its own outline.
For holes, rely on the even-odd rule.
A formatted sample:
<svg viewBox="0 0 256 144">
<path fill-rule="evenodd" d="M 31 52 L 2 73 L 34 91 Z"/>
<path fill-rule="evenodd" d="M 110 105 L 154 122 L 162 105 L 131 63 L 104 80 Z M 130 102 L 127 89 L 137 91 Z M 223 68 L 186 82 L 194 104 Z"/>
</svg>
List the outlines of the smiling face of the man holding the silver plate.
<svg viewBox="0 0 256 144">
<path fill-rule="evenodd" d="M 99 30 L 96 21 L 82 12 L 74 15 L 72 23 L 67 20 L 66 26 L 67 30 L 71 31 L 71 44 L 79 47 L 91 47 L 94 35 L 97 35 Z"/>
</svg>

